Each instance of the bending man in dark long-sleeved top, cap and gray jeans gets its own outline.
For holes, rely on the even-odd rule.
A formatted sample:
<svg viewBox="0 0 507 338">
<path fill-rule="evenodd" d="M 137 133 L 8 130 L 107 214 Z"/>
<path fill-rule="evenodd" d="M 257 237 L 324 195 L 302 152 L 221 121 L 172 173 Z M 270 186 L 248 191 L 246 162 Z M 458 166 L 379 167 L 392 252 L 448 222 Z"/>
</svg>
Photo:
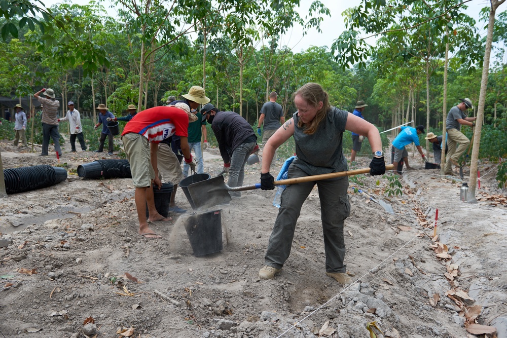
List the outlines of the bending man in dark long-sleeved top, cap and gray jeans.
<svg viewBox="0 0 507 338">
<path fill-rule="evenodd" d="M 224 160 L 224 171 L 229 173 L 227 184 L 231 187 L 243 185 L 246 160 L 257 145 L 257 136 L 252 127 L 233 111 L 221 111 L 211 103 L 202 109 L 202 119 L 211 125 L 220 155 Z M 230 192 L 231 198 L 241 198 L 241 192 Z"/>
</svg>

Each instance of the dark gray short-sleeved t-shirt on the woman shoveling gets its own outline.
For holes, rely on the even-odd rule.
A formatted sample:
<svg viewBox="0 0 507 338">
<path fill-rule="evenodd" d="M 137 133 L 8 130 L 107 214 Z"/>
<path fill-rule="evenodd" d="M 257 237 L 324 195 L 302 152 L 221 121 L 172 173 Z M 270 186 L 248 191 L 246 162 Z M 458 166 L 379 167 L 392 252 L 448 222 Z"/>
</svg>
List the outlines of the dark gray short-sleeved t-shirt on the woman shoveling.
<svg viewBox="0 0 507 338">
<path fill-rule="evenodd" d="M 347 160 L 343 156 L 342 138 L 349 114 L 348 111 L 331 107 L 317 131 L 308 135 L 304 133 L 304 126 L 303 129 L 298 127 L 299 117 L 296 111 L 293 118 L 297 159 L 293 165 L 308 175 L 346 171 Z"/>
</svg>

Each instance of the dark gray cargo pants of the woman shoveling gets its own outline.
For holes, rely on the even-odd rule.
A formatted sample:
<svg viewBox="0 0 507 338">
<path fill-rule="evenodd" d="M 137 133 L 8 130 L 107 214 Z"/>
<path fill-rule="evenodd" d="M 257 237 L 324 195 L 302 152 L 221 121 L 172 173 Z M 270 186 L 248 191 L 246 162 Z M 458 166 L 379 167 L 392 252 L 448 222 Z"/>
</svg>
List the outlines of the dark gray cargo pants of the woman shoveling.
<svg viewBox="0 0 507 338">
<path fill-rule="evenodd" d="M 308 176 L 304 171 L 291 165 L 288 178 Z M 281 269 L 291 254 L 292 241 L 296 222 L 301 207 L 317 184 L 320 198 L 322 231 L 324 235 L 325 271 L 344 273 L 345 241 L 343 238 L 343 221 L 350 214 L 348 200 L 348 177 L 337 180 L 322 180 L 288 185 L 282 193 L 282 202 L 275 220 L 273 232 L 269 238 L 265 264 Z"/>
</svg>

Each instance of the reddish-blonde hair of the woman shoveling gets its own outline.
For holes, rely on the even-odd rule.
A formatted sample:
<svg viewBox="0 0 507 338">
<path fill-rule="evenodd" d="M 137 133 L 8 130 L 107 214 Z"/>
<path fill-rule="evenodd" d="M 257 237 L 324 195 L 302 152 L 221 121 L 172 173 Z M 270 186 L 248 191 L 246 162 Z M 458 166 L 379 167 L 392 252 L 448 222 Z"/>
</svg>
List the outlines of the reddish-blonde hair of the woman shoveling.
<svg viewBox="0 0 507 338">
<path fill-rule="evenodd" d="M 298 89 L 293 94 L 293 99 L 298 95 L 313 107 L 317 107 L 318 103 L 322 102 L 322 108 L 317 111 L 317 114 L 312 121 L 306 124 L 303 123 L 301 119 L 298 121 L 298 127 L 301 129 L 303 129 L 303 127 L 306 127 L 304 133 L 312 135 L 317 131 L 320 122 L 324 120 L 325 116 L 328 114 L 328 111 L 331 108 L 331 105 L 329 104 L 329 95 L 322 89 L 319 84 L 313 82 L 309 82 Z"/>
</svg>

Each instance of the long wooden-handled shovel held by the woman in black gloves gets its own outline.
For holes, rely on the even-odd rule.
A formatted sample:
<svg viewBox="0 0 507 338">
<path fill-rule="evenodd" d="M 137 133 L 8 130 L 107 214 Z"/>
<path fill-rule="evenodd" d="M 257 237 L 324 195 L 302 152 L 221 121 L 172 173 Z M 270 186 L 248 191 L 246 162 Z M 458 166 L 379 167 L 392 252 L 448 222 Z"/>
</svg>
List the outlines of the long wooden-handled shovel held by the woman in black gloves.
<svg viewBox="0 0 507 338">
<path fill-rule="evenodd" d="M 392 170 L 392 164 L 386 165 L 385 170 Z M 274 185 L 297 184 L 303 182 L 319 181 L 336 177 L 367 174 L 370 168 L 355 169 L 349 171 L 335 172 L 313 176 L 296 177 L 274 181 Z M 197 209 L 206 209 L 214 205 L 227 204 L 231 201 L 229 192 L 255 190 L 261 187 L 261 183 L 230 187 L 224 181 L 224 176 L 213 177 L 204 181 L 196 182 L 188 186 L 188 191 Z"/>
</svg>

